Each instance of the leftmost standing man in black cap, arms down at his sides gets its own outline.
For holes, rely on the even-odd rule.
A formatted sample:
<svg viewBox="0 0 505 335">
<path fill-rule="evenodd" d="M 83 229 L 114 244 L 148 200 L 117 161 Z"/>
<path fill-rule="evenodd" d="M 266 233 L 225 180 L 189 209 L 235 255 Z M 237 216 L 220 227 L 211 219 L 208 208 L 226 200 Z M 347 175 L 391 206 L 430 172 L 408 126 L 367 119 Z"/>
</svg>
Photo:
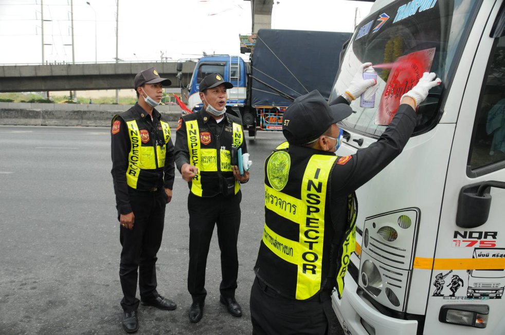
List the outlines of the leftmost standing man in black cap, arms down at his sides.
<svg viewBox="0 0 505 335">
<path fill-rule="evenodd" d="M 112 119 L 112 177 L 121 242 L 119 279 L 123 291 L 123 329 L 138 329 L 135 297 L 138 286 L 140 303 L 172 310 L 177 305 L 156 291 L 156 253 L 161 245 L 165 207 L 172 200 L 174 183 L 174 146 L 170 127 L 154 108 L 163 86 L 154 68 L 135 76 L 138 102 Z"/>
</svg>

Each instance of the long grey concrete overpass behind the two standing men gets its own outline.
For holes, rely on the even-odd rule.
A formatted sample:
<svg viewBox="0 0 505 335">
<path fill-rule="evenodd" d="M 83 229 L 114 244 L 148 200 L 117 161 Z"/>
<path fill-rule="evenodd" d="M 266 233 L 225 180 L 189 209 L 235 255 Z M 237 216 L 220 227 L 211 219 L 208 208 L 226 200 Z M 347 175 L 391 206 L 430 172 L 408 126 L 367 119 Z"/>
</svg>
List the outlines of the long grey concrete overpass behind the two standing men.
<svg viewBox="0 0 505 335">
<path fill-rule="evenodd" d="M 183 63 L 183 84 L 191 80 L 194 65 Z M 176 66 L 177 62 L 4 65 L 0 66 L 0 92 L 133 88 L 135 74 L 149 67 L 177 87 Z"/>
</svg>

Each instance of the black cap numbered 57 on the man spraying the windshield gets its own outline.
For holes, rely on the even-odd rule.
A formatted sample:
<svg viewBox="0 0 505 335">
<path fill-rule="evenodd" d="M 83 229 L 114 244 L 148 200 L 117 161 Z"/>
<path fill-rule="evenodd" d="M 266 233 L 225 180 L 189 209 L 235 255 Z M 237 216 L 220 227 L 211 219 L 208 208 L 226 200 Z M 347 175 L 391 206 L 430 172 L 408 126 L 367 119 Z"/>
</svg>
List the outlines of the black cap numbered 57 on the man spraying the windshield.
<svg viewBox="0 0 505 335">
<path fill-rule="evenodd" d="M 282 134 L 290 144 L 306 144 L 316 140 L 328 128 L 352 114 L 348 104 L 328 105 L 319 91 L 298 97 L 287 107 Z"/>
</svg>

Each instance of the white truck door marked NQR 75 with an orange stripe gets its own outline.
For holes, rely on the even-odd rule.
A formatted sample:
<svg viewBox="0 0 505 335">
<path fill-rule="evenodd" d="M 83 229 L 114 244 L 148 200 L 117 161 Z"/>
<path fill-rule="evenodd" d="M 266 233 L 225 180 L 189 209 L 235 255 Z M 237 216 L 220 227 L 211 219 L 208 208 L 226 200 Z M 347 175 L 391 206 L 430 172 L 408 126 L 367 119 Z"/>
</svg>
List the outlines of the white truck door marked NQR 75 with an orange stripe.
<svg viewBox="0 0 505 335">
<path fill-rule="evenodd" d="M 431 321 L 425 323 L 425 334 L 476 331 L 449 323 L 474 323 L 466 325 L 485 327 L 486 334 L 503 333 L 505 327 L 505 299 L 501 299 L 505 277 L 505 36 L 503 26 L 496 31 L 504 15 L 500 3 L 495 3 L 461 88 L 428 294 L 426 320 Z M 474 315 L 474 307 L 485 317 L 465 319 L 464 313 Z M 450 310 L 452 317 L 445 318 L 444 310 Z"/>
</svg>

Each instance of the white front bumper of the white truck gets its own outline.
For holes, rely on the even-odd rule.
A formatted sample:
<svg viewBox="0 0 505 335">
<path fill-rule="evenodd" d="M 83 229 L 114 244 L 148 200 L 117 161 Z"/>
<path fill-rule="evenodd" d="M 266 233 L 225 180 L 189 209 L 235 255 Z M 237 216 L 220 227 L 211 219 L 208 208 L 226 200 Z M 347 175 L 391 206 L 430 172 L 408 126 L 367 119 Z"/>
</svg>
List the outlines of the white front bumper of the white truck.
<svg viewBox="0 0 505 335">
<path fill-rule="evenodd" d="M 356 293 L 358 286 L 351 276 L 346 275 L 344 281 L 342 300 L 338 299 L 337 293 L 332 295 L 333 310 L 340 325 L 344 328 L 344 333 L 369 335 L 362 320 L 375 329 L 375 335 L 413 335 L 417 333 L 417 321 L 386 317 Z"/>
</svg>

